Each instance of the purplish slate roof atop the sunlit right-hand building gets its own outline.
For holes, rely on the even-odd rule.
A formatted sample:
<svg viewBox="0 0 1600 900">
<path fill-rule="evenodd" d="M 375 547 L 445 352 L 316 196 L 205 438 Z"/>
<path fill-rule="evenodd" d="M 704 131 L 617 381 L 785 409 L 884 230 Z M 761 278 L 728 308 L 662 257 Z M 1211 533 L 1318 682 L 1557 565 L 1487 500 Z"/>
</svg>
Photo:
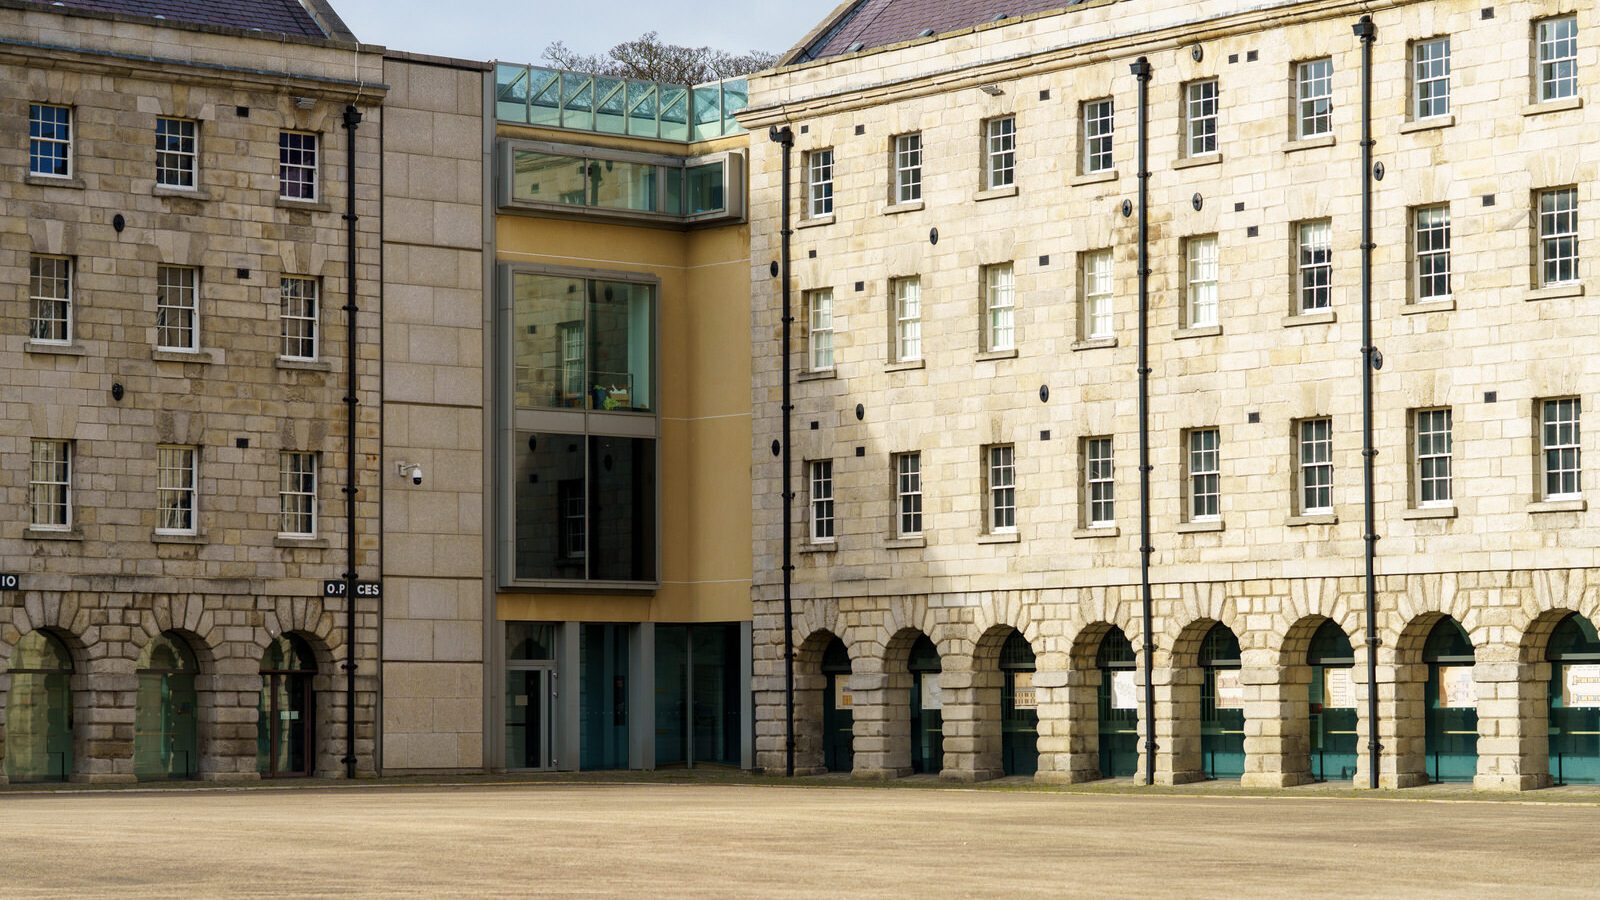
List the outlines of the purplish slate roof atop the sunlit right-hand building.
<svg viewBox="0 0 1600 900">
<path fill-rule="evenodd" d="M 794 56 L 794 62 L 888 46 L 928 34 L 946 34 L 997 16 L 1027 16 L 1075 6 L 1083 0 L 861 0 L 840 21 Z M 931 29 L 931 32 L 930 32 Z M 861 46 L 856 46 L 856 45 Z"/>
</svg>

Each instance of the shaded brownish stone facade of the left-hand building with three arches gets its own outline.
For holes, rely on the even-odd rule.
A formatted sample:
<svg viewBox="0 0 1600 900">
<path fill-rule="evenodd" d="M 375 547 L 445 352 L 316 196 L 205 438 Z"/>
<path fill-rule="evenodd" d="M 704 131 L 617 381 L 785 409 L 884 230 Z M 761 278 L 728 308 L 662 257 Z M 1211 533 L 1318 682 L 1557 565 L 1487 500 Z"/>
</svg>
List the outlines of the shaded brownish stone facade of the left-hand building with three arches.
<svg viewBox="0 0 1600 900">
<path fill-rule="evenodd" d="M 347 487 L 357 573 L 381 564 L 384 69 L 320 2 L 274 10 L 0 3 L 13 777 L 333 777 L 352 749 L 374 770 L 378 605 L 352 634 L 323 580 Z"/>
</svg>

